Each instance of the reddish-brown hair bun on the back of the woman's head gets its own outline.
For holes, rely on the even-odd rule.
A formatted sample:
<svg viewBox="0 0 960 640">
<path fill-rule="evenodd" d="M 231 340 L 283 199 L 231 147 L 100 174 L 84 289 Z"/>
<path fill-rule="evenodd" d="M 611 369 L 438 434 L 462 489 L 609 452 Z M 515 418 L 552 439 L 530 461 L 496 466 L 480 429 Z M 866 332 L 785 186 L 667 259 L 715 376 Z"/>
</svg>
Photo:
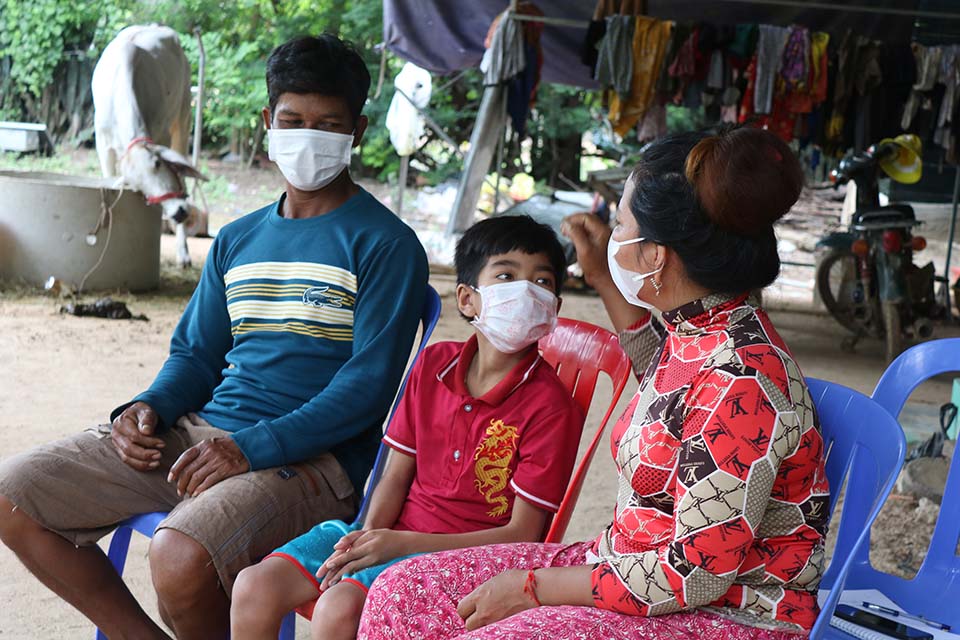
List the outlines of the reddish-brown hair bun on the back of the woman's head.
<svg viewBox="0 0 960 640">
<path fill-rule="evenodd" d="M 703 138 L 687 156 L 685 173 L 710 221 L 749 237 L 783 217 L 803 189 L 803 169 L 790 147 L 754 127 Z"/>
</svg>

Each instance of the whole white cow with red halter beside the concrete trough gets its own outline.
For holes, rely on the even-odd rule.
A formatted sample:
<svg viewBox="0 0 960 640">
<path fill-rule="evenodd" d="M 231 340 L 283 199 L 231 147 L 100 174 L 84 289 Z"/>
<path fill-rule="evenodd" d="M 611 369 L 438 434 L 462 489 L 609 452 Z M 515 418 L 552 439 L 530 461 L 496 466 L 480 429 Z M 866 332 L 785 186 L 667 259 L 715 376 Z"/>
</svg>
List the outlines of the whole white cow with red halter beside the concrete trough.
<svg viewBox="0 0 960 640">
<path fill-rule="evenodd" d="M 185 154 L 190 135 L 190 64 L 177 33 L 160 25 L 127 27 L 93 70 L 94 127 L 100 169 L 120 175 L 176 223 L 177 261 L 190 266 L 190 207 L 183 178 L 206 180 Z"/>
</svg>

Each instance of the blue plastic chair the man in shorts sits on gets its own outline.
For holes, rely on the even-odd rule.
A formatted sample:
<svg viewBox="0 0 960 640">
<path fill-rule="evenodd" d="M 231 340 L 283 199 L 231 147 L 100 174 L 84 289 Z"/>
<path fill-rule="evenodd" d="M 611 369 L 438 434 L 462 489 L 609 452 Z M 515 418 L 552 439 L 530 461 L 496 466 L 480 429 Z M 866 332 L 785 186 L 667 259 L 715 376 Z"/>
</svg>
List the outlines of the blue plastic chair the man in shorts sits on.
<svg viewBox="0 0 960 640">
<path fill-rule="evenodd" d="M 440 294 L 437 293 L 436 289 L 427 285 L 427 293 L 423 301 L 423 310 L 420 314 L 420 343 L 417 345 L 417 352 L 413 356 L 413 362 L 416 362 L 417 358 L 420 357 L 420 352 L 423 351 L 423 348 L 427 346 L 427 341 L 430 339 L 430 335 L 433 333 L 434 328 L 437 326 L 437 321 L 440 319 Z M 409 369 L 407 371 L 409 375 Z M 397 398 L 403 395 L 403 390 L 407 385 L 407 377 L 404 376 L 403 382 L 400 385 L 400 391 L 397 394 Z M 397 410 L 396 401 L 394 402 L 393 408 L 390 410 L 390 418 L 393 418 L 394 412 Z M 374 462 L 373 471 L 371 472 L 370 481 L 368 482 L 369 487 L 373 487 L 376 484 L 376 480 L 379 479 L 380 474 L 383 473 L 382 466 L 385 462 L 385 454 L 383 453 L 384 447 L 381 445 L 380 450 L 377 452 L 377 459 Z M 360 516 L 358 520 L 365 513 L 367 508 L 367 498 L 370 494 L 368 490 L 363 497 L 363 503 L 360 507 Z M 113 564 L 114 569 L 117 570 L 117 573 L 123 575 L 123 567 L 127 561 L 127 550 L 130 547 L 130 534 L 133 531 L 139 531 L 148 538 L 152 538 L 154 532 L 157 530 L 157 525 L 160 524 L 160 521 L 167 517 L 169 512 L 166 511 L 155 511 L 153 513 L 144 513 L 132 518 L 124 520 L 119 525 L 117 525 L 116 530 L 113 533 L 113 537 L 110 539 L 110 547 L 107 551 L 107 557 L 110 559 L 110 562 Z M 296 631 L 296 614 L 291 612 L 283 619 L 283 624 L 280 627 L 280 636 L 279 640 L 294 640 L 294 635 Z M 107 640 L 107 636 L 103 634 L 100 629 L 97 629 L 96 640 Z"/>
</svg>

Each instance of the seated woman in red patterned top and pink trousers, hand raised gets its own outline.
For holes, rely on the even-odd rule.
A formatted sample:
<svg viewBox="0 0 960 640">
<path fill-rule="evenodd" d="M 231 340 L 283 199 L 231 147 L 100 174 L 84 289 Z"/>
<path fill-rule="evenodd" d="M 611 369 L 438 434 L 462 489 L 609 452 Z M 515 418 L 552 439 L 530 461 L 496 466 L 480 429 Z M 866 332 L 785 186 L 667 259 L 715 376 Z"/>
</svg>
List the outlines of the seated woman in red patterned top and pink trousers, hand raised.
<svg viewBox="0 0 960 640">
<path fill-rule="evenodd" d="M 803 375 L 749 295 L 779 272 L 773 223 L 802 182 L 768 132 L 683 134 L 646 150 L 612 236 L 594 217 L 567 221 L 640 380 L 612 434 L 613 522 L 589 542 L 397 565 L 371 589 L 359 637 L 807 634 L 829 504 L 823 440 Z"/>
</svg>

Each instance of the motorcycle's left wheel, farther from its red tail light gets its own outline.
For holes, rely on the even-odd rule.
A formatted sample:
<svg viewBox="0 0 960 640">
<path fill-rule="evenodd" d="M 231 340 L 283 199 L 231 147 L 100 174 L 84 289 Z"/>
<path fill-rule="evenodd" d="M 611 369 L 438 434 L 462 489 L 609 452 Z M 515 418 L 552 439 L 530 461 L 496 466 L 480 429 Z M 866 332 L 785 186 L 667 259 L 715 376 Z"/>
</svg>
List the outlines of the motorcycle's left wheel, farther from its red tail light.
<svg viewBox="0 0 960 640">
<path fill-rule="evenodd" d="M 869 292 L 857 300 L 854 292 L 859 283 L 857 257 L 846 249 L 833 249 L 817 267 L 817 293 L 830 315 L 847 330 L 857 335 L 880 337 L 882 327 L 874 321 L 876 314 L 869 306 Z"/>
</svg>

